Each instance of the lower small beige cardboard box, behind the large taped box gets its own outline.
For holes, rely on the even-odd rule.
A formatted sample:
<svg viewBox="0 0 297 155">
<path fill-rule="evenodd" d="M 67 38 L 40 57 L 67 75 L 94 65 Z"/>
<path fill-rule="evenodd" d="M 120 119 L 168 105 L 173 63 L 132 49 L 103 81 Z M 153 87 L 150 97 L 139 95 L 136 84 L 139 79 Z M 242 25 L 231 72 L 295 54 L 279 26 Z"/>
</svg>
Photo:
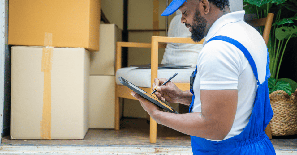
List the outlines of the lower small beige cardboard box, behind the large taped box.
<svg viewBox="0 0 297 155">
<path fill-rule="evenodd" d="M 89 128 L 114 128 L 114 78 L 90 75 Z"/>
</svg>

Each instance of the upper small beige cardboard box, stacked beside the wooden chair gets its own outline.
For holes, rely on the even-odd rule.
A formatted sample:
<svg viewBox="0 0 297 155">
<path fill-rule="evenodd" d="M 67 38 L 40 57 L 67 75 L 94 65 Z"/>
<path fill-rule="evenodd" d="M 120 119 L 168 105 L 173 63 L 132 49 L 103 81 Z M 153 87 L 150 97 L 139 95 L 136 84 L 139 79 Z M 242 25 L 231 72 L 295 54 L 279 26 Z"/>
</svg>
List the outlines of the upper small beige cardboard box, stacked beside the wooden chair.
<svg viewBox="0 0 297 155">
<path fill-rule="evenodd" d="M 100 24 L 100 50 L 91 52 L 91 75 L 115 74 L 115 46 L 121 40 L 122 31 L 115 24 Z"/>
</svg>

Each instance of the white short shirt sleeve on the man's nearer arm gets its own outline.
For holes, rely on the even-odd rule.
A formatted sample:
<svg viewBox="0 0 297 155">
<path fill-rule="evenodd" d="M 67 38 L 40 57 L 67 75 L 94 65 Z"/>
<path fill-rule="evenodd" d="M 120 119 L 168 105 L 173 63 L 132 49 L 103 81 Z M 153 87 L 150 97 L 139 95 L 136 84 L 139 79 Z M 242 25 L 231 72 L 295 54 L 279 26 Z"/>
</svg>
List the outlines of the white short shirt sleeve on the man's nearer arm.
<svg viewBox="0 0 297 155">
<path fill-rule="evenodd" d="M 205 44 L 197 61 L 200 89 L 237 89 L 242 66 L 239 52 L 233 44 L 221 40 Z"/>
</svg>

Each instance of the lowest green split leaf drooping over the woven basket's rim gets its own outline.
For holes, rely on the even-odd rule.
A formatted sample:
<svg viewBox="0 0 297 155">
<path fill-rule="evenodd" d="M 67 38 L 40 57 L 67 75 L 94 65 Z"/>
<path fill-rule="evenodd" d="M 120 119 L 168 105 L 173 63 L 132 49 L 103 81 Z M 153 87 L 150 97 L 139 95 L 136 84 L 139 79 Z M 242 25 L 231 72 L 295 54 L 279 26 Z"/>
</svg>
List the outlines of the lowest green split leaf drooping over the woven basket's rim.
<svg viewBox="0 0 297 155">
<path fill-rule="evenodd" d="M 292 94 L 292 88 L 288 82 L 285 82 L 285 81 L 276 82 L 275 78 L 272 78 L 272 77 L 269 77 L 268 79 L 268 90 L 269 90 L 269 94 L 277 90 L 283 90 L 289 95 Z"/>
</svg>

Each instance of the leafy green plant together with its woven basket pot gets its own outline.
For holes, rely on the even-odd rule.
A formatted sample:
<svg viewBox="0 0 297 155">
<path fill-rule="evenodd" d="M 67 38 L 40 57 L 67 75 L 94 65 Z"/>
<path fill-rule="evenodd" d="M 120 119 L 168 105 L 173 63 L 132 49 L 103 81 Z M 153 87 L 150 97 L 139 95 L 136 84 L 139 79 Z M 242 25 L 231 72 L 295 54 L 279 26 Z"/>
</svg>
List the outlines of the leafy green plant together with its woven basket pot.
<svg viewBox="0 0 297 155">
<path fill-rule="evenodd" d="M 294 24 L 297 20 L 297 0 L 243 0 L 243 4 L 246 13 L 255 13 L 258 18 L 267 17 L 273 9 L 277 10 L 277 13 L 273 12 L 275 22 L 267 45 L 271 73 L 268 79 L 269 98 L 274 112 L 269 127 L 272 136 L 297 134 L 297 91 L 292 93 L 297 83 L 289 78 L 278 78 L 288 41 L 297 37 L 297 26 Z M 284 10 L 295 12 L 295 15 L 281 18 L 285 14 Z"/>
</svg>

